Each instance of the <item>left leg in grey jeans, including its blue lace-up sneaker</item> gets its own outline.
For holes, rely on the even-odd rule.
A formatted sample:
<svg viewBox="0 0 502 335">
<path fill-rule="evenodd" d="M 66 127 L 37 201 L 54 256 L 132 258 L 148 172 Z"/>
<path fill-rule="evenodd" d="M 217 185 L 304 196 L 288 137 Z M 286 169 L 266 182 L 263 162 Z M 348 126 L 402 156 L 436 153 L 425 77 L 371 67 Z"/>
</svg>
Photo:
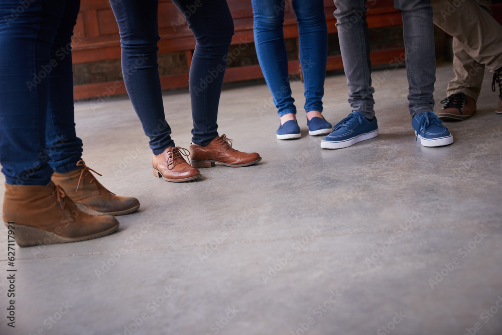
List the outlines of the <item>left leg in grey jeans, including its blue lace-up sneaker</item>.
<svg viewBox="0 0 502 335">
<path fill-rule="evenodd" d="M 340 149 L 378 136 L 374 117 L 374 89 L 371 87 L 368 24 L 364 0 L 334 0 L 336 28 L 347 76 L 352 113 L 333 127 L 321 141 L 321 148 Z"/>
</svg>

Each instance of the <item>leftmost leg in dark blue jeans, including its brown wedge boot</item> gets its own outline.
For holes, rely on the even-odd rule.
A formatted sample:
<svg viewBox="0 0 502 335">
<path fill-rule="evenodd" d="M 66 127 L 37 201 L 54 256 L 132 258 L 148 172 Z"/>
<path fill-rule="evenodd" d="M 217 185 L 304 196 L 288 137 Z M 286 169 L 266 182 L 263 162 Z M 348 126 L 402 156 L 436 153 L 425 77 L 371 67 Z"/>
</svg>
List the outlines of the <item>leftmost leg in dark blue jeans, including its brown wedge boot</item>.
<svg viewBox="0 0 502 335">
<path fill-rule="evenodd" d="M 6 226 L 21 247 L 89 240 L 118 228 L 112 216 L 77 209 L 50 181 L 45 150 L 51 47 L 72 0 L 34 0 L 16 17 L 17 1 L 0 3 L 0 161 L 7 184 Z M 11 12 L 12 11 L 12 12 Z M 73 11 L 76 16 L 77 12 Z M 70 20 L 75 20 L 75 17 Z"/>
</svg>

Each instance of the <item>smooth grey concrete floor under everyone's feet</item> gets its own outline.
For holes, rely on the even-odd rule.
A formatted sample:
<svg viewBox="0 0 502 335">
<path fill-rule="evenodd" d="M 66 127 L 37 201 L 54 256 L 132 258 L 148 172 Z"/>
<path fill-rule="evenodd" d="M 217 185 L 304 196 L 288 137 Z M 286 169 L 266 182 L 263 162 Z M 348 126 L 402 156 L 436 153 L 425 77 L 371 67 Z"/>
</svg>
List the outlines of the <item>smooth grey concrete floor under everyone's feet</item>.
<svg viewBox="0 0 502 335">
<path fill-rule="evenodd" d="M 438 67 L 437 106 L 452 75 Z M 302 138 L 276 140 L 265 84 L 225 89 L 220 134 L 263 160 L 202 169 L 190 183 L 152 176 L 129 99 L 76 103 L 86 163 L 141 208 L 105 238 L 16 247 L 14 329 L 4 248 L 0 333 L 502 334 L 502 116 L 491 73 L 477 113 L 448 123 L 455 142 L 442 148 L 415 142 L 405 70 L 376 76 L 380 135 L 340 150 L 320 149 L 303 111 Z M 303 106 L 303 85 L 293 91 Z M 345 77 L 326 78 L 325 92 L 335 124 L 350 111 Z M 188 93 L 164 101 L 188 148 Z"/>
</svg>

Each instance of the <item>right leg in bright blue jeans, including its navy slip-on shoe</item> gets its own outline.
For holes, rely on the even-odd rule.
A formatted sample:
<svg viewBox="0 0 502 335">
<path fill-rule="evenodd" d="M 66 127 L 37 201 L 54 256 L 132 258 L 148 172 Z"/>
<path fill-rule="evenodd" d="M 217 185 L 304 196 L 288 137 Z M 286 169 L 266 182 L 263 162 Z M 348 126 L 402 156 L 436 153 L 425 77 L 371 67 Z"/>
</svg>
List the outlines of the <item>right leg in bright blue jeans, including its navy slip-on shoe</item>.
<svg viewBox="0 0 502 335">
<path fill-rule="evenodd" d="M 298 21 L 299 54 L 305 86 L 305 111 L 310 135 L 331 132 L 331 124 L 322 117 L 322 97 L 328 56 L 328 29 L 322 0 L 293 1 Z M 312 120 L 313 118 L 317 118 Z"/>
</svg>

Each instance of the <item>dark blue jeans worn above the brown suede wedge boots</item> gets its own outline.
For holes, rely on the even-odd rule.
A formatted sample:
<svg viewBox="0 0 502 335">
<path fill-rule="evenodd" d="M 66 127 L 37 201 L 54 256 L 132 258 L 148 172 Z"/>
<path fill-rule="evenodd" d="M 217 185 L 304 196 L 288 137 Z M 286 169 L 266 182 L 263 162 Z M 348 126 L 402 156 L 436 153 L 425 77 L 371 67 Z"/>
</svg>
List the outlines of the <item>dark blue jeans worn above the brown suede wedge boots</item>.
<svg viewBox="0 0 502 335">
<path fill-rule="evenodd" d="M 0 2 L 0 162 L 8 184 L 75 170 L 70 41 L 78 0 Z"/>
</svg>

